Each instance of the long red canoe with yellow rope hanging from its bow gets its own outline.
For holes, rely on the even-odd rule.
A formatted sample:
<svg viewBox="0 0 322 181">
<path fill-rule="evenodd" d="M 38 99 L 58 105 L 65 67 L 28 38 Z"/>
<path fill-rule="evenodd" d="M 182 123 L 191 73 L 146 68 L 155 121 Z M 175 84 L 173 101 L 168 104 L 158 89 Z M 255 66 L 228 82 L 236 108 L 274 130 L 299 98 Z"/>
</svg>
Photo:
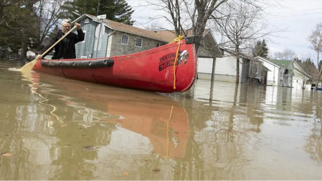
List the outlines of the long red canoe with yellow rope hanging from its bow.
<svg viewBox="0 0 322 181">
<path fill-rule="evenodd" d="M 191 37 L 129 55 L 38 60 L 32 70 L 98 84 L 154 92 L 183 92 L 196 79 L 197 55 Z"/>
</svg>

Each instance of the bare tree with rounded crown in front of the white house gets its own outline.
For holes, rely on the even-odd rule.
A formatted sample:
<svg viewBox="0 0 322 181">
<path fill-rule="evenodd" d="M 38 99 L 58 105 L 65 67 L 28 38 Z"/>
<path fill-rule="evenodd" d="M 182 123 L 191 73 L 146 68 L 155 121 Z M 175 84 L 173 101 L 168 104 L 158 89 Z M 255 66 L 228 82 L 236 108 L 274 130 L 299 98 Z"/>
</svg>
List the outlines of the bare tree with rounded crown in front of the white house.
<svg viewBox="0 0 322 181">
<path fill-rule="evenodd" d="M 230 2 L 223 6 L 219 15 L 213 16 L 218 31 L 227 38 L 224 46 L 231 48 L 236 53 L 236 83 L 239 83 L 239 57 L 241 50 L 249 48 L 250 44 L 259 38 L 273 33 L 265 31 L 266 23 L 261 21 L 261 8 L 248 3 Z M 267 52 L 263 40 L 262 49 Z M 263 55 L 265 50 L 263 49 Z M 267 54 L 266 54 L 267 56 Z M 265 56 L 265 57 L 266 57 Z"/>
</svg>

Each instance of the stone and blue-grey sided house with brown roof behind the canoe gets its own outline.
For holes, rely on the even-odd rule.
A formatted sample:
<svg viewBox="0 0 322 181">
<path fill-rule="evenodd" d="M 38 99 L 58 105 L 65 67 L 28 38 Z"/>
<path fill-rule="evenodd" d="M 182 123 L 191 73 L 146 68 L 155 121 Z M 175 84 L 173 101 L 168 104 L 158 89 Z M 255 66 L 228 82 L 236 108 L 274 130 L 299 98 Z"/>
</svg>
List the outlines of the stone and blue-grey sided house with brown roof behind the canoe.
<svg viewBox="0 0 322 181">
<path fill-rule="evenodd" d="M 77 58 L 111 57 L 136 53 L 165 45 L 175 36 L 137 28 L 84 14 L 73 21 L 82 25 L 85 40 L 76 44 Z"/>
</svg>

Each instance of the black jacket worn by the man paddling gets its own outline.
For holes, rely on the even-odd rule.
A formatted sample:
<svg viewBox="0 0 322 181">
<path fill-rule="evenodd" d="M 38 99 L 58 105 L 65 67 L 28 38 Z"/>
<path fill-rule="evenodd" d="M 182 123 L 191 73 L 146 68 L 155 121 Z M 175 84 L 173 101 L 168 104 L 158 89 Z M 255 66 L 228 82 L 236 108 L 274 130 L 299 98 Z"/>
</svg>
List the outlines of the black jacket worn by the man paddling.
<svg viewBox="0 0 322 181">
<path fill-rule="evenodd" d="M 63 37 L 64 33 L 59 30 L 56 34 L 56 37 L 53 37 L 46 44 L 42 52 L 45 52 L 52 45 L 54 45 L 61 37 Z M 82 29 L 77 29 L 77 34 L 70 32 L 64 39 L 62 39 L 54 48 L 55 53 L 52 59 L 68 59 L 68 58 L 76 58 L 75 44 L 78 42 L 84 41 L 85 34 Z M 51 52 L 52 49 L 49 51 Z M 48 52 L 48 53 L 49 53 Z M 47 53 L 47 54 L 48 54 Z M 43 58 L 47 55 L 45 54 Z"/>
</svg>

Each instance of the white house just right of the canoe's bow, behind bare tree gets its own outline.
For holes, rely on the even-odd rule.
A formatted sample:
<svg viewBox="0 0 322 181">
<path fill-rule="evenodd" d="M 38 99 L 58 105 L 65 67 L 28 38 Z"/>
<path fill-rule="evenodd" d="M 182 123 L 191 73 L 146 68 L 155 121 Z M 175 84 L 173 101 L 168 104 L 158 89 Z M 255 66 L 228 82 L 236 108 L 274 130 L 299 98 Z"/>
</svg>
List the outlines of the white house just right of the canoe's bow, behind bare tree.
<svg viewBox="0 0 322 181">
<path fill-rule="evenodd" d="M 214 66 L 213 80 L 224 82 L 236 81 L 236 53 L 233 51 L 220 48 L 223 56 L 216 58 Z M 245 56 L 239 56 L 239 82 L 246 83 L 248 77 L 249 61 Z M 198 78 L 211 80 L 212 61 L 211 59 L 199 58 L 198 62 Z"/>
</svg>

